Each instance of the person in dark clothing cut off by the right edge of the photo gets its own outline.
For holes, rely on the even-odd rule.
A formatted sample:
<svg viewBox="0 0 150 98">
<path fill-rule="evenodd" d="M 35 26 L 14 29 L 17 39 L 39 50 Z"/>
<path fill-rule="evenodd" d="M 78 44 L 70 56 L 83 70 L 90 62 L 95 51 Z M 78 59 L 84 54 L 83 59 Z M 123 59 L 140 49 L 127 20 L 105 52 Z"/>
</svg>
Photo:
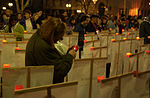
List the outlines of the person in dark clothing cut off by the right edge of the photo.
<svg viewBox="0 0 150 98">
<path fill-rule="evenodd" d="M 140 38 L 144 37 L 144 44 L 150 44 L 150 39 L 148 36 L 150 36 L 150 19 L 149 17 L 145 17 L 144 21 L 140 25 L 139 30 L 139 36 Z"/>
</svg>

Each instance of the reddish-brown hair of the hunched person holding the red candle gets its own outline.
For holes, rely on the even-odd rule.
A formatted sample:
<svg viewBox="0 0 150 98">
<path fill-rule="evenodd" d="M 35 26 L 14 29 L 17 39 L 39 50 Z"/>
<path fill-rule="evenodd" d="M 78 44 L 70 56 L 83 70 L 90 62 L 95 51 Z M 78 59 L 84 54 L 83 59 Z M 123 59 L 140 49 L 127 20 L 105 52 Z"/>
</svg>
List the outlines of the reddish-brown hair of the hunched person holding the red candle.
<svg viewBox="0 0 150 98">
<path fill-rule="evenodd" d="M 59 18 L 51 17 L 41 25 L 41 36 L 54 48 L 54 40 L 58 35 L 64 34 L 65 29 L 65 24 Z"/>
</svg>

